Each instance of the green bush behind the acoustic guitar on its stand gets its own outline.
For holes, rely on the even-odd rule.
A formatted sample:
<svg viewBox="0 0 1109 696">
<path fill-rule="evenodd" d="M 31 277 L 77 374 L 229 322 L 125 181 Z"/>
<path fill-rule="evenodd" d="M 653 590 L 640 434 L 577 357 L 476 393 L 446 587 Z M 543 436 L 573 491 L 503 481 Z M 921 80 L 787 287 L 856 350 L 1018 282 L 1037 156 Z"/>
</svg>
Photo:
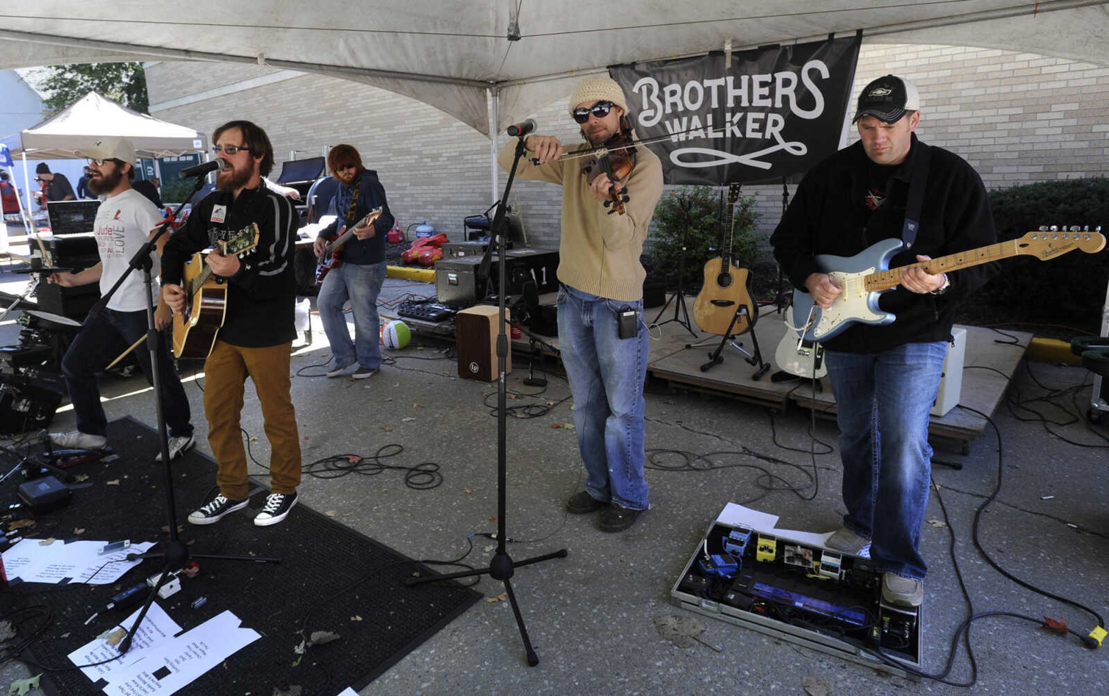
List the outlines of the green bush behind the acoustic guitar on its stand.
<svg viewBox="0 0 1109 696">
<path fill-rule="evenodd" d="M 728 205 L 726 193 L 724 206 Z M 694 293 L 704 279 L 704 265 L 721 255 L 721 233 L 718 218 L 721 192 L 709 186 L 684 186 L 662 194 L 654 208 L 652 233 L 653 275 L 667 279 L 668 289 L 678 287 L 678 268 L 685 242 L 685 277 L 683 289 Z M 753 196 L 740 196 L 732 217 L 732 260 L 741 268 L 750 268 L 759 253 L 759 237 L 752 234 L 759 213 L 754 211 Z M 688 209 L 688 213 L 682 208 Z M 685 236 L 686 223 L 689 236 Z M 726 248 L 728 231 L 723 231 Z"/>
</svg>

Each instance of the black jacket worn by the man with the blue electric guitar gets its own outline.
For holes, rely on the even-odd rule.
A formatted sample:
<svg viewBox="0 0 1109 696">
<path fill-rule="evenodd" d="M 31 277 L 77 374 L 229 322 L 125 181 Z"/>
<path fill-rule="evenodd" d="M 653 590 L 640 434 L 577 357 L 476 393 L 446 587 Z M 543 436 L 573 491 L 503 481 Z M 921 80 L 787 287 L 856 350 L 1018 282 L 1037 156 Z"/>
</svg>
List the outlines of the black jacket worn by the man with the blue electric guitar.
<svg viewBox="0 0 1109 696">
<path fill-rule="evenodd" d="M 910 250 L 898 252 L 889 267 L 913 264 L 917 254 L 936 258 L 997 240 L 978 173 L 958 155 L 922 143 L 916 134 L 912 141 L 908 156 L 886 184 L 885 203 L 868 219 L 864 201 L 869 158 L 862 142 L 841 150 L 805 175 L 770 239 L 774 258 L 794 287 L 805 290 L 805 278 L 821 273 L 814 255 L 855 256 L 882 239 L 901 238 L 913 165 L 925 147 L 930 149 L 932 163 L 916 243 Z M 990 263 L 948 273 L 952 285 L 943 295 L 918 295 L 897 286 L 878 300 L 884 311 L 896 315 L 895 321 L 885 326 L 854 324 L 824 346 L 873 354 L 902 344 L 950 340 L 957 303 L 997 269 L 997 264 Z"/>
</svg>

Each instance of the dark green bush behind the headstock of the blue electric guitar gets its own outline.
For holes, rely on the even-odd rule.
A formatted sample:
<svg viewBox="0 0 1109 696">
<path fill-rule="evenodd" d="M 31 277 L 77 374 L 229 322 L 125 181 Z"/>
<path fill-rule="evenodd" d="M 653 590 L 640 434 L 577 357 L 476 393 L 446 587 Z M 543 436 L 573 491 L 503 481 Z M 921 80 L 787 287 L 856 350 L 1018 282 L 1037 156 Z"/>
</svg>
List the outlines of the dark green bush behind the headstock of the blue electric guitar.
<svg viewBox="0 0 1109 696">
<path fill-rule="evenodd" d="M 1076 178 L 1014 186 L 990 194 L 999 240 L 1016 239 L 1040 225 L 1089 225 L 1109 221 L 1109 178 Z M 1041 262 L 1018 256 L 969 301 L 1006 306 L 1028 320 L 1090 324 L 1101 314 L 1109 283 L 1109 250 L 1069 252 Z"/>
</svg>

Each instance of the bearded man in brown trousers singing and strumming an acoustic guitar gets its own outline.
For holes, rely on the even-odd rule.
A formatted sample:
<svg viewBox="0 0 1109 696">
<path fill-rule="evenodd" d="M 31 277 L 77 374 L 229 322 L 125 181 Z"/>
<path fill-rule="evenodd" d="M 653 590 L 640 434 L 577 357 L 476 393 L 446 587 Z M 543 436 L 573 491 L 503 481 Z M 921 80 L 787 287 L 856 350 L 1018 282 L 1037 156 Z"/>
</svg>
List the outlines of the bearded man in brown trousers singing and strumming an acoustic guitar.
<svg viewBox="0 0 1109 696">
<path fill-rule="evenodd" d="M 162 296 L 174 313 L 184 308 L 182 269 L 194 253 L 212 246 L 204 263 L 227 285 L 223 326 L 204 364 L 204 413 L 208 444 L 220 467 L 220 493 L 190 513 L 189 521 L 214 524 L 250 502 L 246 451 L 240 432 L 244 385 L 250 377 L 269 440 L 273 487 L 254 523 L 276 524 L 296 504 L 301 483 L 301 442 L 289 393 L 289 346 L 296 336 L 293 252 L 298 218 L 285 196 L 262 183 L 274 164 L 265 131 L 250 121 L 232 121 L 216 129 L 212 142 L 213 152 L 224 163 L 216 190 L 196 205 L 162 255 Z M 252 224 L 260 231 L 257 246 L 244 252 L 242 258 L 218 252 L 222 243 L 248 231 Z"/>
</svg>

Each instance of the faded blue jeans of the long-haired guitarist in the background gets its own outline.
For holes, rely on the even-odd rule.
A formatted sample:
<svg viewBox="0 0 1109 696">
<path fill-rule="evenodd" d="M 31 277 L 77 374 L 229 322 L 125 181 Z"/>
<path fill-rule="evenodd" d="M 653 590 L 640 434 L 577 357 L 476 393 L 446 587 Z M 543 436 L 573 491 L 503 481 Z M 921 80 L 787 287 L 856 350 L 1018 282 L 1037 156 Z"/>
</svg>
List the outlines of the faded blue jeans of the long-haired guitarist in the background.
<svg viewBox="0 0 1109 696">
<path fill-rule="evenodd" d="M 336 367 L 354 365 L 376 370 L 381 367 L 381 337 L 378 330 L 377 295 L 385 283 L 386 262 L 368 266 L 340 264 L 324 278 L 316 308 L 332 346 Z M 347 329 L 343 306 L 350 300 L 354 340 Z"/>
</svg>

